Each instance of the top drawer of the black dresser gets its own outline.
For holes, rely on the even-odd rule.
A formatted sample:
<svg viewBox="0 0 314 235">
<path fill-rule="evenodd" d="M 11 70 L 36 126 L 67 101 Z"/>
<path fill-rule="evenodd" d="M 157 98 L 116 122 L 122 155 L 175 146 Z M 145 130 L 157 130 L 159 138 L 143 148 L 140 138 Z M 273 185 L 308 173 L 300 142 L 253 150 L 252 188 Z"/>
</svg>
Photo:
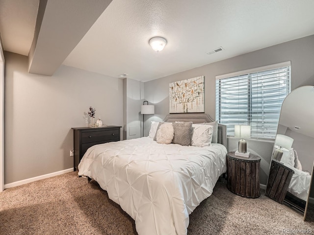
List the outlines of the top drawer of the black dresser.
<svg viewBox="0 0 314 235">
<path fill-rule="evenodd" d="M 119 134 L 120 134 L 120 129 L 82 132 L 82 143 L 111 141 L 111 140 L 115 140 L 119 138 Z"/>
</svg>

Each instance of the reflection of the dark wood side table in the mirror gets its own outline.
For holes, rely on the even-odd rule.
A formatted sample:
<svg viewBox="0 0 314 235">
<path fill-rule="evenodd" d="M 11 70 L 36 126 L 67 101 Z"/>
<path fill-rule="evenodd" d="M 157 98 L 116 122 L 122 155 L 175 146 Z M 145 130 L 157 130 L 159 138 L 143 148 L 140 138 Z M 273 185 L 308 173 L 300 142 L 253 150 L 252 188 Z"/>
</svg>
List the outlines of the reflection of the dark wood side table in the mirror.
<svg viewBox="0 0 314 235">
<path fill-rule="evenodd" d="M 283 203 L 294 171 L 277 160 L 272 160 L 265 195 Z"/>
</svg>

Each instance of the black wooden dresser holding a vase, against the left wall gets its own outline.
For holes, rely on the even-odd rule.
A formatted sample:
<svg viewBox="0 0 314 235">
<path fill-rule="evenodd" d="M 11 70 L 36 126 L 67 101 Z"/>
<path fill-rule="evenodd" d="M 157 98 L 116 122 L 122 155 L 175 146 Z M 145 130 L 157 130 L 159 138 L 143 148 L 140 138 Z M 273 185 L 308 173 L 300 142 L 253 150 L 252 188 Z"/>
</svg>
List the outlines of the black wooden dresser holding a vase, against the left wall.
<svg viewBox="0 0 314 235">
<path fill-rule="evenodd" d="M 74 171 L 86 150 L 95 145 L 112 141 L 120 141 L 121 126 L 99 128 L 73 127 L 74 130 Z"/>
</svg>

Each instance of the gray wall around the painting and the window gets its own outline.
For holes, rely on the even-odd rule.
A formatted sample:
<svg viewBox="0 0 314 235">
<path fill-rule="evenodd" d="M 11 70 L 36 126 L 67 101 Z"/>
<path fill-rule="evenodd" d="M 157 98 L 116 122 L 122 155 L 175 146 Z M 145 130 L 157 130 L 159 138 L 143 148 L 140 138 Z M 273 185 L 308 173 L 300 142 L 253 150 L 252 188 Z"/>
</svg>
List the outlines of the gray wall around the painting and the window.
<svg viewBox="0 0 314 235">
<path fill-rule="evenodd" d="M 223 51 L 219 53 L 223 53 Z M 215 54 L 211 56 L 215 56 Z M 314 35 L 145 82 L 145 99 L 156 105 L 155 116 L 150 120 L 158 121 L 169 114 L 170 82 L 205 75 L 205 113 L 215 118 L 215 77 L 217 75 L 285 61 L 291 61 L 291 90 L 300 86 L 314 85 Z M 147 120 L 145 122 L 146 134 L 149 127 L 150 121 Z M 237 149 L 238 139 L 228 139 L 228 150 Z M 249 151 L 262 158 L 260 181 L 261 184 L 266 185 L 273 141 L 250 140 L 248 148 Z"/>
</svg>

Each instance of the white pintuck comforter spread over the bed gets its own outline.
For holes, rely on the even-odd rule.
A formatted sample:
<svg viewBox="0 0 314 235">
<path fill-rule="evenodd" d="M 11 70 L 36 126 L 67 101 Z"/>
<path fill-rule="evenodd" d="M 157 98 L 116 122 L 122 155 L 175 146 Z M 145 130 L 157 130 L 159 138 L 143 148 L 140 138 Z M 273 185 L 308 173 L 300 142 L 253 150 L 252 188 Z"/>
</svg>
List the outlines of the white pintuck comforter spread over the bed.
<svg viewBox="0 0 314 235">
<path fill-rule="evenodd" d="M 158 144 L 149 137 L 92 146 L 78 175 L 96 180 L 139 235 L 186 235 L 189 214 L 226 171 L 226 148 Z"/>
</svg>

